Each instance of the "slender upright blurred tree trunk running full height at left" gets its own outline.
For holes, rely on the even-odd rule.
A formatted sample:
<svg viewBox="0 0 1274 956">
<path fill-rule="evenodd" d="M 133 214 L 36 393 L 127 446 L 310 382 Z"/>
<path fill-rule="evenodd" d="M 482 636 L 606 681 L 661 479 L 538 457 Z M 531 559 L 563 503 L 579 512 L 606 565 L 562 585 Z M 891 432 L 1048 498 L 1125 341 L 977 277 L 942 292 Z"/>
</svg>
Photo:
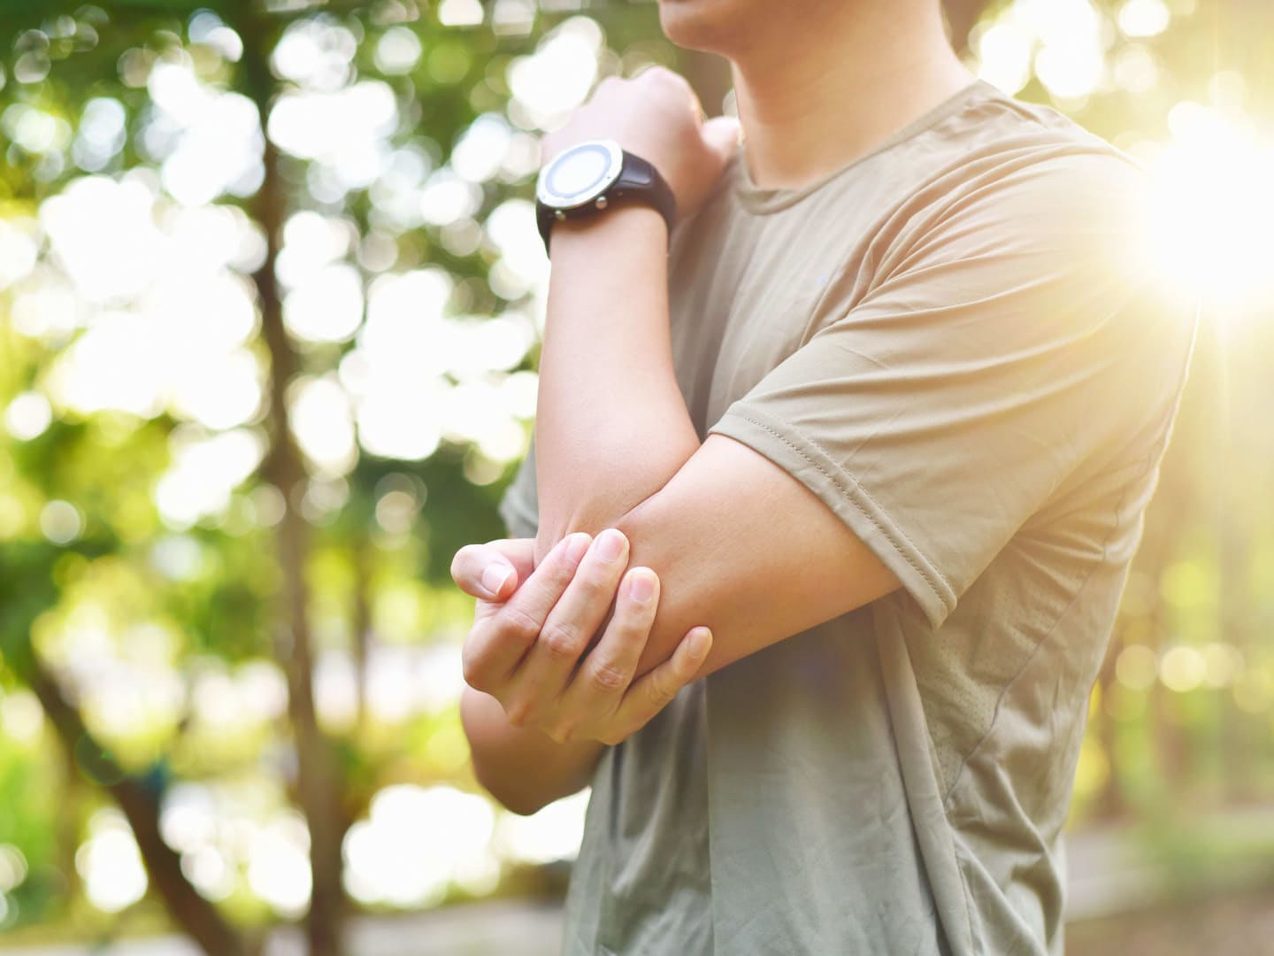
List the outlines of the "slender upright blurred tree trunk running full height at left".
<svg viewBox="0 0 1274 956">
<path fill-rule="evenodd" d="M 250 94 L 261 116 L 265 133 L 273 80 L 269 70 L 271 24 L 248 20 L 240 25 L 243 38 L 243 66 Z M 288 419 L 287 387 L 299 371 L 299 362 L 287 329 L 274 265 L 285 209 L 285 185 L 279 173 L 279 153 L 265 139 L 265 180 L 252 204 L 252 213 L 266 237 L 266 256 L 254 277 L 261 308 L 261 335 L 270 353 L 270 450 L 262 464 L 262 477 L 274 484 L 285 501 L 278 526 L 279 565 L 283 571 L 283 613 L 278 628 L 276 656 L 288 676 L 288 715 L 297 753 L 297 797 L 310 831 L 310 872 L 312 894 L 306 916 L 310 956 L 340 956 L 347 910 L 341 885 L 341 841 L 348 821 L 341 807 L 341 780 L 336 753 L 318 728 L 313 702 L 313 653 L 310 630 L 310 594 L 306 563 L 310 554 L 310 529 L 297 502 L 304 492 L 306 470 L 292 436 Z"/>
</svg>

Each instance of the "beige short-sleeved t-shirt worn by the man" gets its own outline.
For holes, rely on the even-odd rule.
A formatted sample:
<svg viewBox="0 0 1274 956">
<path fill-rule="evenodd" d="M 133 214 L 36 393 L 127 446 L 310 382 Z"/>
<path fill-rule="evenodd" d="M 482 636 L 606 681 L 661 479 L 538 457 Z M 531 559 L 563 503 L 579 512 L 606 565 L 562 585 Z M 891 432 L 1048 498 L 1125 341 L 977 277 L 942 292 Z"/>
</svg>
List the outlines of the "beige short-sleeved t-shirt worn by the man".
<svg viewBox="0 0 1274 956">
<path fill-rule="evenodd" d="M 805 189 L 736 161 L 680 224 L 701 436 L 784 468 L 903 588 L 608 751 L 568 953 L 1061 951 L 1088 695 L 1194 330 L 1136 255 L 1143 192 L 976 83 Z M 503 514 L 535 533 L 530 463 Z"/>
</svg>

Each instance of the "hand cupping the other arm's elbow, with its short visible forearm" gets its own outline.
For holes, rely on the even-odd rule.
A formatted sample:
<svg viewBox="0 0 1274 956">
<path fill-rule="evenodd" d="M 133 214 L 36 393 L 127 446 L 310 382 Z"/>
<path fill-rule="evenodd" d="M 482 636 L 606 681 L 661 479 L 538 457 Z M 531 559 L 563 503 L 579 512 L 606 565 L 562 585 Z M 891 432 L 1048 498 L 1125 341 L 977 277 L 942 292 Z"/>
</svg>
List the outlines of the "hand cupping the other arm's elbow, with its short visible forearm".
<svg viewBox="0 0 1274 956">
<path fill-rule="evenodd" d="M 461 650 L 461 720 L 478 780 L 534 813 L 589 783 L 603 743 L 642 727 L 691 681 L 712 646 L 693 628 L 633 679 L 659 607 L 659 579 L 627 567 L 618 532 L 572 534 L 531 570 L 533 539 L 461 548 L 451 574 L 478 598 Z M 609 621 L 604 621 L 614 602 Z M 598 644 L 580 663 L 590 635 Z"/>
</svg>

